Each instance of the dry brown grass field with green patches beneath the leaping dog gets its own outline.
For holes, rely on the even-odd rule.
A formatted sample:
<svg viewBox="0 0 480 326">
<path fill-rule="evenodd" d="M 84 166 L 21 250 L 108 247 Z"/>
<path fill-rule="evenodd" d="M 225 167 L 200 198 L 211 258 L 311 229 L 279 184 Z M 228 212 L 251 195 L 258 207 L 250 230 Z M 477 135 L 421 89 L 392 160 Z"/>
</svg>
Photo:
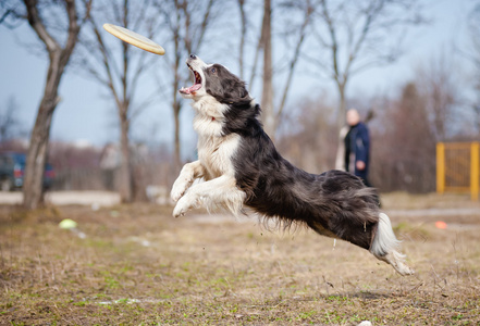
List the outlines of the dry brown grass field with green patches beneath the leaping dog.
<svg viewBox="0 0 480 326">
<path fill-rule="evenodd" d="M 349 243 L 270 231 L 255 217 L 0 206 L 0 325 L 479 325 L 479 203 L 402 193 L 382 202 L 386 212 L 479 213 L 391 214 L 416 269 L 402 277 Z M 59 228 L 63 218 L 86 237 Z"/>
</svg>

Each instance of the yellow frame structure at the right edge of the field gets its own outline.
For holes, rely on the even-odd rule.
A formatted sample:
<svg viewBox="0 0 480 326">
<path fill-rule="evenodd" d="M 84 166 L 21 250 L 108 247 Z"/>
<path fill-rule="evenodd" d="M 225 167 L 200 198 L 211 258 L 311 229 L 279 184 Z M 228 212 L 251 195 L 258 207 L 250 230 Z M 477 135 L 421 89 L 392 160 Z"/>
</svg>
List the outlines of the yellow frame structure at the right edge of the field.
<svg viewBox="0 0 480 326">
<path fill-rule="evenodd" d="M 436 145 L 436 192 L 470 192 L 478 200 L 480 188 L 480 142 Z"/>
</svg>

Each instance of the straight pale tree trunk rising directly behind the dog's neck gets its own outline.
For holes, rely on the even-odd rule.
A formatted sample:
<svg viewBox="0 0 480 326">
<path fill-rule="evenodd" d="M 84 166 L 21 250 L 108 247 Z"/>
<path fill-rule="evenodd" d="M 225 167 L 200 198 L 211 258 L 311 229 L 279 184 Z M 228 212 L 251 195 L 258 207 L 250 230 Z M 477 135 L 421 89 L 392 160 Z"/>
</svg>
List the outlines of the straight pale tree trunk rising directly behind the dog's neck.
<svg viewBox="0 0 480 326">
<path fill-rule="evenodd" d="M 271 36 L 271 0 L 263 2 L 263 88 L 261 92 L 261 109 L 263 111 L 263 124 L 270 138 L 275 137 L 275 112 L 273 108 L 273 82 L 272 82 L 272 36 Z"/>
</svg>

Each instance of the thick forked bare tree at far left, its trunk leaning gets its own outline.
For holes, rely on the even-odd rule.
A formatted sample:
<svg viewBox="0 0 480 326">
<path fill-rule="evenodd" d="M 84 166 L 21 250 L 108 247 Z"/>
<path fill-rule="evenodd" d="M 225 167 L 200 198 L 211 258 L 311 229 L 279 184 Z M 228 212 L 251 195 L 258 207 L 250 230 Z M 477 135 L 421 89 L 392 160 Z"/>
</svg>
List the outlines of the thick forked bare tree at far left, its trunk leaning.
<svg viewBox="0 0 480 326">
<path fill-rule="evenodd" d="M 51 120 L 60 102 L 58 93 L 60 82 L 77 42 L 81 27 L 89 15 L 91 0 L 41 2 L 24 0 L 23 4 L 20 8 L 19 3 L 11 2 L 9 7 L 11 16 L 28 21 L 32 29 L 44 43 L 49 58 L 44 96 L 32 130 L 23 187 L 24 206 L 36 209 L 44 201 L 42 177 Z M 3 15 L 2 20 L 4 20 Z M 62 25 L 63 22 L 65 24 Z"/>
</svg>

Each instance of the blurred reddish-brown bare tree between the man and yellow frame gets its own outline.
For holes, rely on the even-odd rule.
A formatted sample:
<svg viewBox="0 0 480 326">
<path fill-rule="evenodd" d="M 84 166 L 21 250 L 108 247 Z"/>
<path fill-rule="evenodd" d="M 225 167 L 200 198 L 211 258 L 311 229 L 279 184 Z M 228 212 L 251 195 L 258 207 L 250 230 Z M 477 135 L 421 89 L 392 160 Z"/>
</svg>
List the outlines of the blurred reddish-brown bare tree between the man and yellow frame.
<svg viewBox="0 0 480 326">
<path fill-rule="evenodd" d="M 381 128 L 373 129 L 371 177 L 383 191 L 429 192 L 435 186 L 435 135 L 428 98 L 408 83 L 382 112 Z M 392 123 L 395 122 L 395 123 Z"/>
</svg>

